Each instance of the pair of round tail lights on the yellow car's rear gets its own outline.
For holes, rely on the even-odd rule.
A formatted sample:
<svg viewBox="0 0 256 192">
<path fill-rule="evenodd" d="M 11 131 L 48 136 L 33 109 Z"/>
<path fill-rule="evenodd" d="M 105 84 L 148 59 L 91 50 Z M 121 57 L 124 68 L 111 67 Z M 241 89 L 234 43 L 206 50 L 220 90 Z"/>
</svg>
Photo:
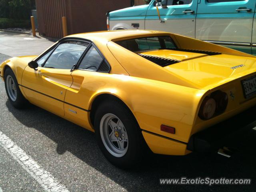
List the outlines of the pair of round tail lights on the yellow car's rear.
<svg viewBox="0 0 256 192">
<path fill-rule="evenodd" d="M 217 90 L 210 94 L 210 96 L 204 98 L 198 116 L 204 120 L 210 119 L 214 115 L 224 112 L 227 105 L 228 95 L 225 92 Z"/>
</svg>

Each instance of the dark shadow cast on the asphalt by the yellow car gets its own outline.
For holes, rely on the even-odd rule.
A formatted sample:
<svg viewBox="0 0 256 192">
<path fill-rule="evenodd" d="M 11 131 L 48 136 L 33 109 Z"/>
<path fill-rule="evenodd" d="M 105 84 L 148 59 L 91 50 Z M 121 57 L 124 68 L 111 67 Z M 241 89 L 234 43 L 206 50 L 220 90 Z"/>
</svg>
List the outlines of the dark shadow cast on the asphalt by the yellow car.
<svg viewBox="0 0 256 192">
<path fill-rule="evenodd" d="M 56 142 L 56 152 L 68 151 L 128 191 L 254 191 L 256 184 L 256 131 L 237 141 L 239 149 L 231 158 L 217 154 L 164 156 L 154 154 L 132 170 L 121 170 L 110 164 L 100 152 L 94 134 L 46 110 L 30 105 L 15 109 L 6 101 L 8 110 L 22 124 L 34 128 Z M 220 133 L 221 134 L 221 133 Z M 249 186 L 160 185 L 160 178 L 251 178 Z"/>
</svg>

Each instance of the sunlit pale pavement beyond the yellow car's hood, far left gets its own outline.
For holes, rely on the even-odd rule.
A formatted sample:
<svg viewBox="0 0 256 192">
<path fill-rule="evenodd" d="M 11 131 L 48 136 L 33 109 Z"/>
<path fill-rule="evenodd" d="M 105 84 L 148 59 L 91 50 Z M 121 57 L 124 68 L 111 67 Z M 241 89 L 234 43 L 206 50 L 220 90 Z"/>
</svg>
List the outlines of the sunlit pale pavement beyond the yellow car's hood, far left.
<svg viewBox="0 0 256 192">
<path fill-rule="evenodd" d="M 7 56 L 38 55 L 54 42 L 41 36 L 0 31 L 0 54 Z"/>
</svg>

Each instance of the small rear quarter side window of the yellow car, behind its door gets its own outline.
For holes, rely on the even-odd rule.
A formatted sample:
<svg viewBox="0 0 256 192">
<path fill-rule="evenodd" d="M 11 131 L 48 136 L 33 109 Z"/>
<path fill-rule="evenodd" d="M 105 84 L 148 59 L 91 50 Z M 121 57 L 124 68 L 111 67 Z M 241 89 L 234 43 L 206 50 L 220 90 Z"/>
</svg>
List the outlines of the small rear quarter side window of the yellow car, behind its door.
<svg viewBox="0 0 256 192">
<path fill-rule="evenodd" d="M 86 55 L 84 56 L 82 62 L 80 63 L 78 69 L 86 69 L 90 71 L 97 71 L 103 58 L 98 53 L 98 51 L 92 46 Z"/>
</svg>

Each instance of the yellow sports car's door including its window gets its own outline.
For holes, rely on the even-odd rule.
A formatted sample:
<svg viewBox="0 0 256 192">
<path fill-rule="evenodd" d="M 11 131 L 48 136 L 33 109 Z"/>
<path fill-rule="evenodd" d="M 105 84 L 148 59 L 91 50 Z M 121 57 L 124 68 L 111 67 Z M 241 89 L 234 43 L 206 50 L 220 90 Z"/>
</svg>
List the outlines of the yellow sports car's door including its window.
<svg viewBox="0 0 256 192">
<path fill-rule="evenodd" d="M 37 70 L 27 66 L 22 76 L 22 89 L 28 100 L 64 116 L 66 90 L 73 83 L 71 68 L 77 64 L 88 44 L 64 40 L 36 60 Z"/>
</svg>

